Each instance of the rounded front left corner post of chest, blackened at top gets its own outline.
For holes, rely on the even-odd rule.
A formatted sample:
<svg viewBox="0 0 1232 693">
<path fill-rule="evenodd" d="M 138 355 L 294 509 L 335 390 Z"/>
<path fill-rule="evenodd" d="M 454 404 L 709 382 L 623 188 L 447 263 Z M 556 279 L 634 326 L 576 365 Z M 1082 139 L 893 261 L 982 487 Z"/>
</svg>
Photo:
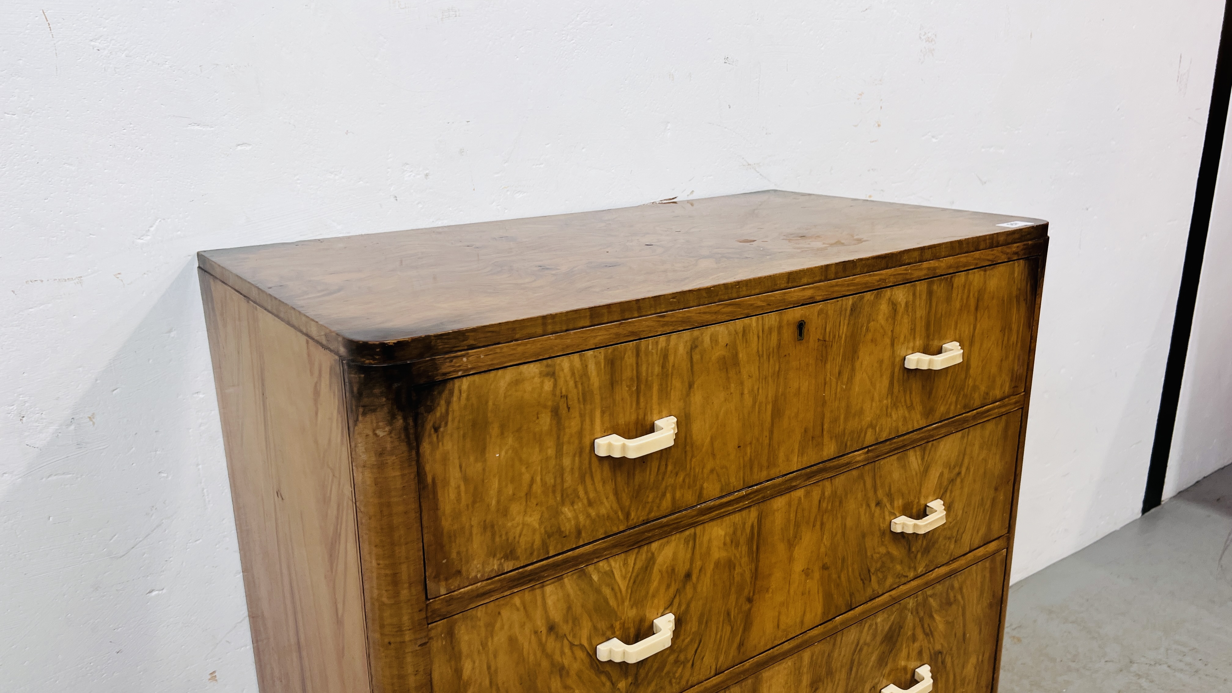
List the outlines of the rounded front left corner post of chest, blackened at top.
<svg viewBox="0 0 1232 693">
<path fill-rule="evenodd" d="M 415 446 L 388 369 L 349 364 L 347 414 L 373 693 L 431 691 Z"/>
</svg>

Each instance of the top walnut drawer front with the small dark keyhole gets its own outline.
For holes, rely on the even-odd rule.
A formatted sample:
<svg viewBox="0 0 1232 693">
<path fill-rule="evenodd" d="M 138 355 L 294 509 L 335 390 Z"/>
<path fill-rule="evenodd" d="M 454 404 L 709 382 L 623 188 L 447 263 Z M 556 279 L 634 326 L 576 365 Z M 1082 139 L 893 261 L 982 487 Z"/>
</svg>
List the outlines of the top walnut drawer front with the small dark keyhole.
<svg viewBox="0 0 1232 693">
<path fill-rule="evenodd" d="M 1036 270 L 1018 260 L 420 390 L 429 594 L 1021 392 Z M 961 364 L 903 366 L 949 342 Z M 673 446 L 594 454 L 595 438 L 669 416 Z"/>
</svg>

